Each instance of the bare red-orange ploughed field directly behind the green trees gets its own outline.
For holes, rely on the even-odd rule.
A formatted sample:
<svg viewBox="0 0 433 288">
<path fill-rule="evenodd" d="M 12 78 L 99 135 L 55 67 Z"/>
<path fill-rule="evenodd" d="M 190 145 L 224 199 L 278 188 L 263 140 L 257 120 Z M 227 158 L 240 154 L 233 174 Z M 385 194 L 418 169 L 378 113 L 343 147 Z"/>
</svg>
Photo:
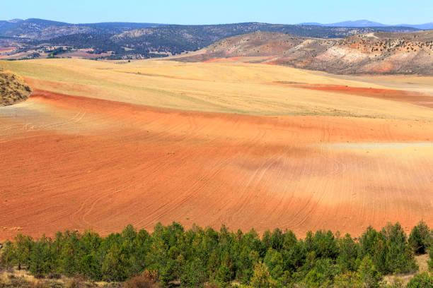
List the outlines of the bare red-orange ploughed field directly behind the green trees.
<svg viewBox="0 0 433 288">
<path fill-rule="evenodd" d="M 177 221 L 433 224 L 433 125 L 159 109 L 35 90 L 0 110 L 0 240 Z"/>
</svg>

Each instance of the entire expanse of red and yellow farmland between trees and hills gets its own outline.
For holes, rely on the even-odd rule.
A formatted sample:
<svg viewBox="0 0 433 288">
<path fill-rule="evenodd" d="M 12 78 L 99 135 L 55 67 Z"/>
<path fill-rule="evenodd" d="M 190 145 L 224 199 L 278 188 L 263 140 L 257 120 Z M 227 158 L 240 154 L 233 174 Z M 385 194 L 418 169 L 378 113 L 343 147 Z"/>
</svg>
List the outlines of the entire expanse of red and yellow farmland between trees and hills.
<svg viewBox="0 0 433 288">
<path fill-rule="evenodd" d="M 0 240 L 173 221 L 300 236 L 433 224 L 433 110 L 410 93 L 376 97 L 391 88 L 374 79 L 252 64 L 1 65 L 34 92 L 0 107 Z M 430 85 L 402 85 L 429 102 Z"/>
</svg>

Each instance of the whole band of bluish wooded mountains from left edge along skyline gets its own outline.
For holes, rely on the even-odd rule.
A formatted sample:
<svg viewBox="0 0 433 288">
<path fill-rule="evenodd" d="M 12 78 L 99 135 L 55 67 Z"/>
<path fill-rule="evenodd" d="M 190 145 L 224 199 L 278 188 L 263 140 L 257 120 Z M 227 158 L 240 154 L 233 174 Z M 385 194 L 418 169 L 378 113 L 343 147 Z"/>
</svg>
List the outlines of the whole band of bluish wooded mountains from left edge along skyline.
<svg viewBox="0 0 433 288">
<path fill-rule="evenodd" d="M 16 47 L 4 52 L 7 59 L 69 56 L 61 47 L 85 49 L 89 58 L 145 59 L 194 52 L 227 37 L 250 32 L 280 32 L 299 37 L 343 38 L 377 31 L 415 32 L 417 28 L 328 27 L 321 25 L 283 25 L 233 23 L 220 25 L 164 25 L 158 23 L 70 24 L 31 18 L 0 21 L 0 47 Z M 56 54 L 48 51 L 57 47 Z M 81 54 L 82 55 L 82 54 Z"/>
</svg>

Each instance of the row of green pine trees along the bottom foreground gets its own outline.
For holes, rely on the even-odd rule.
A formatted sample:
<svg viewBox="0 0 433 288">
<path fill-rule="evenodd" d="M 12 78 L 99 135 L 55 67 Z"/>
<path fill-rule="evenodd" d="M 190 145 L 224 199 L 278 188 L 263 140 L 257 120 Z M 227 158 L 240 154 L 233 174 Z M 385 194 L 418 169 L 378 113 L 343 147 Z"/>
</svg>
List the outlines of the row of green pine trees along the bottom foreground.
<svg viewBox="0 0 433 288">
<path fill-rule="evenodd" d="M 128 225 L 106 237 L 77 231 L 40 239 L 18 234 L 4 242 L 0 262 L 36 277 L 59 273 L 107 282 L 145 272 L 164 287 L 229 287 L 233 282 L 257 288 L 382 287 L 383 275 L 417 271 L 415 255 L 427 253 L 431 242 L 425 222 L 409 236 L 399 223 L 390 223 L 379 231 L 368 227 L 358 239 L 325 230 L 308 232 L 304 239 L 278 228 L 261 236 L 254 229 L 231 232 L 224 225 L 219 231 L 186 230 L 173 222 L 156 224 L 152 233 Z M 409 285 L 433 283 L 426 273 L 414 279 Z"/>
</svg>

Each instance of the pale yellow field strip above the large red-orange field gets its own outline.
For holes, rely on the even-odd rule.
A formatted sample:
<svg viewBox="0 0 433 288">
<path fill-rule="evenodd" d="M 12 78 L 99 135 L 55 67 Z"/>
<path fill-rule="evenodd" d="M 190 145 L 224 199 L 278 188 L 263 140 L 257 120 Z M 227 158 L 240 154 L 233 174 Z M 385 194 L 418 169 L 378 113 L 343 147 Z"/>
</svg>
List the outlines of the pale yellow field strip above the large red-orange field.
<svg viewBox="0 0 433 288">
<path fill-rule="evenodd" d="M 389 89 L 389 80 L 387 85 L 379 85 L 369 78 L 351 80 L 282 66 L 40 59 L 0 61 L 0 67 L 16 71 L 42 90 L 154 107 L 242 114 L 433 119 L 425 107 L 272 84 L 284 81 Z M 429 80 L 432 88 L 433 78 L 422 79 L 423 88 Z M 396 87 L 403 81 L 405 78 L 396 78 Z"/>
</svg>

